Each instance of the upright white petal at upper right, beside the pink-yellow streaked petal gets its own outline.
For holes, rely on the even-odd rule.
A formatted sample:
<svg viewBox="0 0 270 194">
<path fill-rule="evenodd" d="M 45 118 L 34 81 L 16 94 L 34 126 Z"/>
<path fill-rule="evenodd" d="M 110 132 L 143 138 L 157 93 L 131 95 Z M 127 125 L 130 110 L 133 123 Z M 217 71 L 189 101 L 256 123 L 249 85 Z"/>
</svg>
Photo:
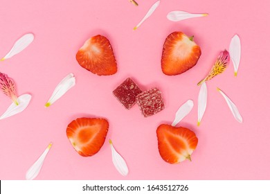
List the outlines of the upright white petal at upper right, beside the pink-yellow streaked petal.
<svg viewBox="0 0 270 194">
<path fill-rule="evenodd" d="M 234 35 L 233 38 L 231 39 L 229 53 L 231 56 L 231 60 L 233 62 L 233 68 L 235 69 L 235 76 L 237 76 L 237 71 L 241 58 L 241 42 L 240 37 L 238 35 Z"/>
</svg>

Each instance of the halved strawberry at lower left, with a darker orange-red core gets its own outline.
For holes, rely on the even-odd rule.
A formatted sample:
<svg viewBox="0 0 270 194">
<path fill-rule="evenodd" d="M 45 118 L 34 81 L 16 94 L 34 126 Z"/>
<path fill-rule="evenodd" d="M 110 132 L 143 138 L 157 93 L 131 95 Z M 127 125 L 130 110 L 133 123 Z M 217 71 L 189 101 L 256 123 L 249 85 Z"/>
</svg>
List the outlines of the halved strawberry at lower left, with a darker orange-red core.
<svg viewBox="0 0 270 194">
<path fill-rule="evenodd" d="M 77 118 L 67 126 L 66 135 L 80 155 L 91 157 L 104 144 L 108 128 L 105 118 Z"/>
</svg>

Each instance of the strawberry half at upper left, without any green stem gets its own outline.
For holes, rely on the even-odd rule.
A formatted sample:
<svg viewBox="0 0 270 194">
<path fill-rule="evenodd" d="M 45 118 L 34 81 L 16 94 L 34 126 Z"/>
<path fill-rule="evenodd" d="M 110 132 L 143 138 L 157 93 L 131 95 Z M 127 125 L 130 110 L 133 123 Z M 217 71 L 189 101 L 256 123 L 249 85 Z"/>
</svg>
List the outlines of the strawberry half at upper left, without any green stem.
<svg viewBox="0 0 270 194">
<path fill-rule="evenodd" d="M 84 69 L 98 76 L 109 76 L 117 71 L 116 59 L 109 39 L 102 35 L 87 39 L 79 49 L 76 60 Z"/>
</svg>

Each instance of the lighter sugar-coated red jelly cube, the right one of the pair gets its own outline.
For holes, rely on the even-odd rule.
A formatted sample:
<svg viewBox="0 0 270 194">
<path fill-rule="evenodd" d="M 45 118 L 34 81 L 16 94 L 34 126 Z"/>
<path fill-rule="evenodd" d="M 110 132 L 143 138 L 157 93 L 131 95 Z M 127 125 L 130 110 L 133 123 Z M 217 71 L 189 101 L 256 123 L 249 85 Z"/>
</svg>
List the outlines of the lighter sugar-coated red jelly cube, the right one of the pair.
<svg viewBox="0 0 270 194">
<path fill-rule="evenodd" d="M 145 117 L 152 116 L 163 110 L 165 107 L 161 91 L 157 88 L 143 91 L 141 94 L 138 94 L 136 103 Z"/>
</svg>

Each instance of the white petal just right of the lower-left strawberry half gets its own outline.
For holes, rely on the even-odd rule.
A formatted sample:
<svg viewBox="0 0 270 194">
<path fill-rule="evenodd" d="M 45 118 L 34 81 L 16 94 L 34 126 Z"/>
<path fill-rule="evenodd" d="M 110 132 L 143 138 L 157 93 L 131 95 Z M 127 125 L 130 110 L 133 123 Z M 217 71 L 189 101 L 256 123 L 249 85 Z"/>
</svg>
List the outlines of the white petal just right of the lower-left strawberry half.
<svg viewBox="0 0 270 194">
<path fill-rule="evenodd" d="M 118 154 L 118 152 L 116 152 L 111 139 L 109 140 L 109 145 L 111 146 L 111 156 L 112 156 L 112 161 L 114 163 L 114 166 L 116 167 L 116 169 L 121 175 L 126 176 L 129 173 L 129 169 L 127 168 L 127 164 L 125 163 L 125 160 L 123 159 L 123 157 L 121 157 Z"/>
</svg>

